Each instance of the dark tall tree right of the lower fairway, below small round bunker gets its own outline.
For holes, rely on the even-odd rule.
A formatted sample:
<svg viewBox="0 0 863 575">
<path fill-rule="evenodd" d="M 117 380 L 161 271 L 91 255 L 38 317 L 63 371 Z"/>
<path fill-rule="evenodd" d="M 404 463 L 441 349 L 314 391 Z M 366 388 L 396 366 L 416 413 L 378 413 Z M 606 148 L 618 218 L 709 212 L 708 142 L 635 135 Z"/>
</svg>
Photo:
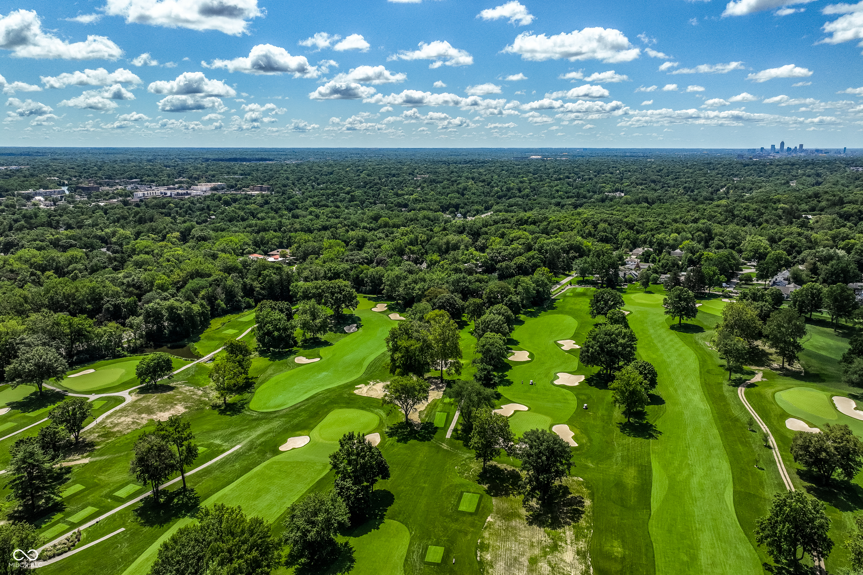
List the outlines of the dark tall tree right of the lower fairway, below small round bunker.
<svg viewBox="0 0 863 575">
<path fill-rule="evenodd" d="M 368 513 L 375 483 L 389 478 L 389 464 L 381 450 L 365 435 L 351 431 L 338 440 L 338 449 L 330 454 L 330 466 L 336 472 L 334 489 L 351 515 Z"/>
</svg>

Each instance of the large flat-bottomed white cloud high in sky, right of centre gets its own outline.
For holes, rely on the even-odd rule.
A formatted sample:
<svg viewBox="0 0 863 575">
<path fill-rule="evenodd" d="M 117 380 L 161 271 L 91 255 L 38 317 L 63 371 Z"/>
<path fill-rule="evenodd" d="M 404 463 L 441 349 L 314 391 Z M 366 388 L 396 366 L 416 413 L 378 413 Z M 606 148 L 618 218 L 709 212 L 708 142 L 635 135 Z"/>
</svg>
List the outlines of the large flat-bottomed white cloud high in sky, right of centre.
<svg viewBox="0 0 863 575">
<path fill-rule="evenodd" d="M 584 28 L 552 36 L 523 32 L 502 52 L 520 54 L 521 59 L 542 62 L 566 58 L 570 61 L 599 59 L 606 63 L 629 62 L 639 57 L 641 50 L 633 47 L 620 30 L 614 28 Z"/>
</svg>

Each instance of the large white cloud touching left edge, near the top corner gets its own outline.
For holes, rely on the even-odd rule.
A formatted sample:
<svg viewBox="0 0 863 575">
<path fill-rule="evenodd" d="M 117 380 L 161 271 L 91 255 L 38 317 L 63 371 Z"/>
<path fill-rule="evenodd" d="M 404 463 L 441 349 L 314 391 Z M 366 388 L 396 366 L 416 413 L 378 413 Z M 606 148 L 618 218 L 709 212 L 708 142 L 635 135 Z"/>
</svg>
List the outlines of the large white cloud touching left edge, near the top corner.
<svg viewBox="0 0 863 575">
<path fill-rule="evenodd" d="M 88 35 L 67 42 L 42 30 L 35 10 L 18 9 L 0 16 L 0 49 L 18 58 L 117 59 L 123 50 L 105 36 Z"/>
</svg>

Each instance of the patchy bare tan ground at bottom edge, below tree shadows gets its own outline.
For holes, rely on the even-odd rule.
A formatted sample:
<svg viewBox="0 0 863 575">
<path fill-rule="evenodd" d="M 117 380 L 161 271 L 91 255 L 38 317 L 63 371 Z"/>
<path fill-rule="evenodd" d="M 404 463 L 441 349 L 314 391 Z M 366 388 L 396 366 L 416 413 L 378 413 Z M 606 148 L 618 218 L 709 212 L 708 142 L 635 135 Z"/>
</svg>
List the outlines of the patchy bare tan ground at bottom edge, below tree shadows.
<svg viewBox="0 0 863 575">
<path fill-rule="evenodd" d="M 593 505 L 587 485 L 580 478 L 567 477 L 568 503 L 572 519 L 545 528 L 528 522 L 522 497 L 494 497 L 494 510 L 480 535 L 478 550 L 486 575 L 591 575 L 590 539 L 593 534 Z M 575 511 L 575 509 L 580 509 Z"/>
</svg>

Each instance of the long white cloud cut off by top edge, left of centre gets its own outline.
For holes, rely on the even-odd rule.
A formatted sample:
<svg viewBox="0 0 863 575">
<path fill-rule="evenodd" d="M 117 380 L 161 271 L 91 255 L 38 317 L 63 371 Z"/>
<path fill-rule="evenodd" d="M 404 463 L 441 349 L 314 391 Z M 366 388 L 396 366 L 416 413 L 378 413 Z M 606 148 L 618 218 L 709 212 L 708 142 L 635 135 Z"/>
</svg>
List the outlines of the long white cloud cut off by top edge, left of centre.
<svg viewBox="0 0 863 575">
<path fill-rule="evenodd" d="M 163 28 L 217 30 L 239 36 L 249 20 L 264 16 L 257 0 L 107 0 L 104 12 L 123 16 L 126 23 Z"/>
</svg>

